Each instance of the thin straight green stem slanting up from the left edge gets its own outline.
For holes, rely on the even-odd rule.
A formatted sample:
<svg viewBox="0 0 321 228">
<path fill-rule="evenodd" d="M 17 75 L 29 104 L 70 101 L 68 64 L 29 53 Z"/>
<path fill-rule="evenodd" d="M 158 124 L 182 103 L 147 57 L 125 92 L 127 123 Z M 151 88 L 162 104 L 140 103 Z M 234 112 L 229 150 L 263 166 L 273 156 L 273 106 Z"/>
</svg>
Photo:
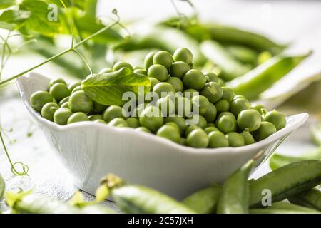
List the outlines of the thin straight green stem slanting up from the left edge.
<svg viewBox="0 0 321 228">
<path fill-rule="evenodd" d="M 91 38 L 95 37 L 95 36 L 98 36 L 99 34 L 103 33 L 104 31 L 108 30 L 109 28 L 113 27 L 113 26 L 116 26 L 116 24 L 119 24 L 119 18 L 117 17 L 117 21 L 115 21 L 113 24 L 111 24 L 110 26 L 106 26 L 105 28 L 101 28 L 101 30 L 98 30 L 96 33 L 93 33 L 91 36 L 88 36 L 87 38 L 84 38 L 82 41 L 76 43 L 73 48 L 68 48 L 67 50 L 65 51 L 62 51 L 61 53 L 58 53 L 56 54 L 55 56 L 52 56 L 51 58 L 48 58 L 46 59 L 46 61 L 42 62 L 42 63 L 39 63 L 38 65 L 36 66 L 33 66 L 29 69 L 27 69 L 26 71 L 23 71 L 21 73 L 18 73 L 17 75 L 15 76 L 12 76 L 10 78 L 7 78 L 6 80 L 4 81 L 1 81 L 0 82 L 0 86 L 1 85 L 4 85 L 5 83 L 8 83 L 9 81 L 12 81 L 16 78 L 19 78 L 20 76 L 23 76 L 25 73 L 28 73 L 29 71 L 32 71 L 36 68 L 39 68 L 40 66 L 43 66 L 44 64 L 46 63 L 49 63 L 50 61 L 54 60 L 55 58 L 58 58 L 60 56 L 63 56 L 64 54 L 68 53 L 68 52 L 71 52 L 73 51 L 74 49 L 78 48 L 78 46 L 81 46 L 83 45 L 83 43 L 86 43 L 87 41 L 89 41 Z"/>
</svg>

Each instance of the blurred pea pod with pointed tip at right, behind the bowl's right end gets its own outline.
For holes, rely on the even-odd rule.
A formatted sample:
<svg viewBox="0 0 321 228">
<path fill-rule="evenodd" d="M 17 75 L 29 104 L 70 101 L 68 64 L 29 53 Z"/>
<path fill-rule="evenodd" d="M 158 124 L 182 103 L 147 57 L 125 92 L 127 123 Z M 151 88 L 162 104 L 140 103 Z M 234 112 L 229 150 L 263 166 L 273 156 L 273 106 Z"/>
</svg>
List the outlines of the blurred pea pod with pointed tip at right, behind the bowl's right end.
<svg viewBox="0 0 321 228">
<path fill-rule="evenodd" d="M 302 56 L 275 56 L 227 85 L 233 88 L 236 94 L 253 100 L 283 78 L 307 56 L 310 56 L 310 53 Z"/>
</svg>

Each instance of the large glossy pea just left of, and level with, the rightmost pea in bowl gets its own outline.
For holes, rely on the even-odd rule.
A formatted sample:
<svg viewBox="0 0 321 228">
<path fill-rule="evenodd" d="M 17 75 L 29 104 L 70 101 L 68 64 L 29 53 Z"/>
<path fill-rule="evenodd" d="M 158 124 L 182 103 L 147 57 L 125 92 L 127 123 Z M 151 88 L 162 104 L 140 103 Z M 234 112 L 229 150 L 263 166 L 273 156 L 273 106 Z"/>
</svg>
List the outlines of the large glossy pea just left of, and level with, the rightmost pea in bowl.
<svg viewBox="0 0 321 228">
<path fill-rule="evenodd" d="M 248 109 L 240 111 L 238 114 L 238 126 L 241 130 L 253 132 L 260 128 L 261 115 L 257 110 Z"/>
</svg>

